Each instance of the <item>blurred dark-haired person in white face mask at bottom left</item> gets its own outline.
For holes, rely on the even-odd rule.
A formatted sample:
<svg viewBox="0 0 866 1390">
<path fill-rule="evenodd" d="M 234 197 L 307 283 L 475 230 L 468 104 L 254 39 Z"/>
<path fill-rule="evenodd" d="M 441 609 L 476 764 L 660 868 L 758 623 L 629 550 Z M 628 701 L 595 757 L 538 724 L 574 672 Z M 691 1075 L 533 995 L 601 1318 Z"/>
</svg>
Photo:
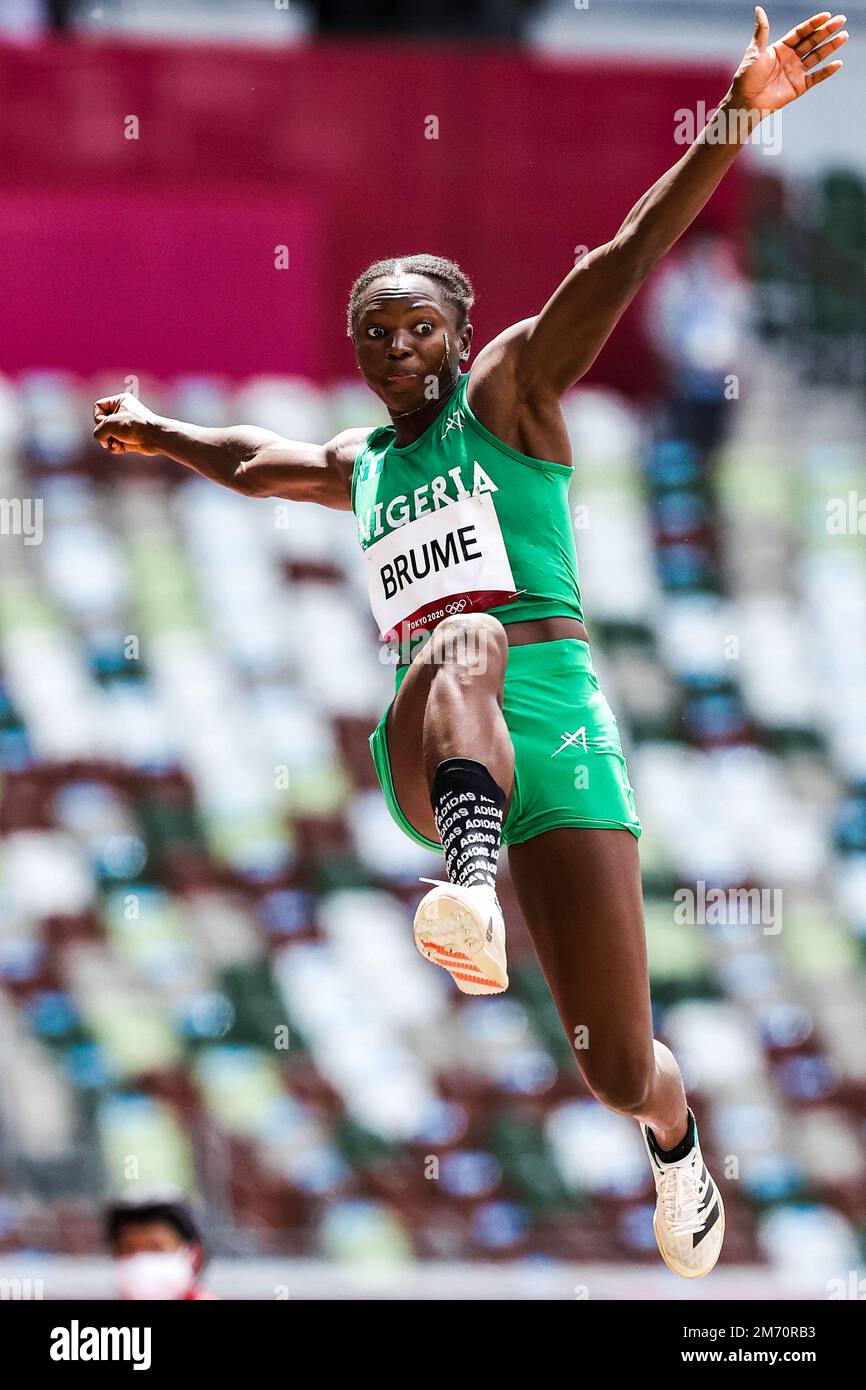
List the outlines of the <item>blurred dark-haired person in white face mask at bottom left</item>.
<svg viewBox="0 0 866 1390">
<path fill-rule="evenodd" d="M 121 1300 L 210 1300 L 200 1275 L 204 1241 L 188 1207 L 178 1201 L 113 1202 L 106 1234 Z"/>
</svg>

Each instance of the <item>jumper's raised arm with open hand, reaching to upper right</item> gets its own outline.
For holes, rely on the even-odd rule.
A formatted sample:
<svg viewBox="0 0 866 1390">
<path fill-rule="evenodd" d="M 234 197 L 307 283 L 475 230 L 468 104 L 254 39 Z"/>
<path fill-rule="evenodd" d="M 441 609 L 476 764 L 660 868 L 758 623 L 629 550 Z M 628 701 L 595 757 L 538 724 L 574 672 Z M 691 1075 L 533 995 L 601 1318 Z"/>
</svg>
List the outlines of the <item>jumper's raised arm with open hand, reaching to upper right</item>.
<svg viewBox="0 0 866 1390">
<path fill-rule="evenodd" d="M 845 15 L 823 10 L 773 44 L 760 6 L 755 15 L 742 63 L 695 143 L 635 203 L 616 236 L 584 256 L 541 313 L 503 335 L 524 399 L 559 398 L 589 370 L 649 271 L 698 215 L 755 126 L 842 67 L 834 61 L 816 71 L 847 43 L 848 33 L 840 32 Z"/>
</svg>

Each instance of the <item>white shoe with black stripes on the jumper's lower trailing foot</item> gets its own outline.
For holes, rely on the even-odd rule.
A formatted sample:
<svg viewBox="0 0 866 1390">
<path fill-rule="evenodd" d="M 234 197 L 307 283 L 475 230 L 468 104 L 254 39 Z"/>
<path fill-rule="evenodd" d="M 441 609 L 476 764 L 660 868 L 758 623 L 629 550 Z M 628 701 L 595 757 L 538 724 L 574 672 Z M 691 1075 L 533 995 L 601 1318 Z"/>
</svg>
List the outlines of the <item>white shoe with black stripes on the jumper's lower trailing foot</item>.
<svg viewBox="0 0 866 1390">
<path fill-rule="evenodd" d="M 724 1204 L 701 1156 L 698 1126 L 695 1147 L 676 1163 L 659 1158 L 646 1125 L 641 1125 L 641 1134 L 656 1180 L 652 1229 L 659 1254 L 674 1275 L 701 1279 L 709 1275 L 721 1252 Z"/>
</svg>

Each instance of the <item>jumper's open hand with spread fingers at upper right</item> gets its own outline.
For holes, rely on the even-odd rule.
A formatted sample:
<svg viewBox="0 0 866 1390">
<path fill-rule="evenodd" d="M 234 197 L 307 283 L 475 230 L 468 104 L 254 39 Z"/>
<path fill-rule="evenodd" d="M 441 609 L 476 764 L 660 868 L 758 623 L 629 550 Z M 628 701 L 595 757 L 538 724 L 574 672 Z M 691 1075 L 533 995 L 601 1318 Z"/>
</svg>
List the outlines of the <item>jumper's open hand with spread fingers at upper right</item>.
<svg viewBox="0 0 866 1390">
<path fill-rule="evenodd" d="M 830 10 L 822 10 L 795 29 L 788 29 L 776 43 L 769 43 L 770 21 L 766 10 L 755 6 L 755 33 L 731 85 L 735 104 L 770 115 L 796 101 L 824 78 L 831 78 L 842 67 L 841 60 L 827 63 L 819 71 L 816 68 L 848 43 L 844 24 L 844 14 L 831 15 Z"/>
</svg>

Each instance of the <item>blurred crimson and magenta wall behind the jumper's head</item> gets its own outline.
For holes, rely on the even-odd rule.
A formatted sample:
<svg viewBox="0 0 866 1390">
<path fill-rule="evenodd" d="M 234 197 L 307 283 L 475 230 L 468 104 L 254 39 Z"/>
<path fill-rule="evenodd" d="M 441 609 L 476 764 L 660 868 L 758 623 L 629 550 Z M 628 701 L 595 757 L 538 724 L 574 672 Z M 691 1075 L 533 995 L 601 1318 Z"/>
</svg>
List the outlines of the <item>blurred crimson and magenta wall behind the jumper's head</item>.
<svg viewBox="0 0 866 1390">
<path fill-rule="evenodd" d="M 683 154 L 674 113 L 727 81 L 396 42 L 0 46 L 0 368 L 352 374 L 352 279 L 417 250 L 470 274 L 482 343 L 613 235 Z M 740 183 L 705 222 L 735 231 Z M 631 310 L 594 379 L 649 377 Z"/>
</svg>

